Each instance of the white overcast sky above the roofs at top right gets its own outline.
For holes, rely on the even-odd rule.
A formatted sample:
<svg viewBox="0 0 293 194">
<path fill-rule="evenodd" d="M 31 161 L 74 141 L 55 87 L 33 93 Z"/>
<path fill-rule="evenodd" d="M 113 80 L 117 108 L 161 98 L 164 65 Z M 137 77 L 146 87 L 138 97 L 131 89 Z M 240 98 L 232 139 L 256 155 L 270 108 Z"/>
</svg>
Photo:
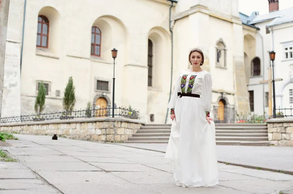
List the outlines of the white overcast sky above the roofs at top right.
<svg viewBox="0 0 293 194">
<path fill-rule="evenodd" d="M 279 9 L 293 7 L 293 0 L 279 0 Z M 259 14 L 269 13 L 268 0 L 239 0 L 239 11 L 250 16 L 251 12 L 259 11 Z"/>
</svg>

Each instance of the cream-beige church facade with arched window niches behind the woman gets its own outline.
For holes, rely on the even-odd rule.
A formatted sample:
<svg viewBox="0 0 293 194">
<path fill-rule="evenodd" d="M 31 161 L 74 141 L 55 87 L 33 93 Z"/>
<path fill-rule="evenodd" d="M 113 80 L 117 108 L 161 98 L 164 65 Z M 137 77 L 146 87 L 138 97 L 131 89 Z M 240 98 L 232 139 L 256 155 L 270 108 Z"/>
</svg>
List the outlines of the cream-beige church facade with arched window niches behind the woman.
<svg viewBox="0 0 293 194">
<path fill-rule="evenodd" d="M 69 1 L 26 2 L 20 62 L 24 2 L 11 0 L 7 42 L 13 39 L 15 43 L 7 45 L 7 53 L 15 61 L 6 64 L 13 75 L 7 75 L 9 78 L 4 80 L 3 116 L 34 112 L 41 81 L 48 87 L 45 111 L 61 110 L 69 76 L 76 87 L 77 109 L 84 109 L 87 102 L 96 106 L 99 98 L 105 98 L 107 106 L 111 106 L 111 49 L 115 47 L 118 50 L 115 104 L 139 109 L 144 122 L 150 123 L 153 114 L 154 123 L 164 123 L 171 81 L 171 2 Z M 48 48 L 37 47 L 38 16 L 45 16 L 49 21 Z M 226 120 L 234 120 L 235 112 L 250 111 L 244 53 L 249 60 L 256 55 L 255 51 L 248 50 L 250 44 L 256 47 L 257 35 L 254 28 L 242 24 L 238 0 L 180 0 L 171 9 L 171 21 L 173 78 L 182 69 L 189 68 L 188 53 L 198 47 L 205 54 L 203 68 L 213 77 L 211 115 L 214 119 L 218 118 L 220 101 L 225 105 Z M 100 56 L 91 55 L 92 27 L 101 31 Z M 152 66 L 150 82 L 148 55 Z M 97 81 L 107 82 L 107 88 L 98 88 Z M 17 87 L 12 83 L 17 83 Z"/>
</svg>

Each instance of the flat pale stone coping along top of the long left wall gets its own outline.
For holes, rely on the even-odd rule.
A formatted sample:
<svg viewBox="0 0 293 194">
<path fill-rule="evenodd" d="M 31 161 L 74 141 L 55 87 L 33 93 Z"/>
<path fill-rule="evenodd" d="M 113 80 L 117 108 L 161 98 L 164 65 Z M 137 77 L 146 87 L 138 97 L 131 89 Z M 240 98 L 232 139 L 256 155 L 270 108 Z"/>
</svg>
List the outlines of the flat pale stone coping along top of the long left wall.
<svg viewBox="0 0 293 194">
<path fill-rule="evenodd" d="M 61 123 L 90 123 L 90 122 L 128 122 L 146 124 L 146 122 L 140 120 L 133 120 L 127 118 L 88 118 L 88 119 L 70 119 L 70 120 L 50 120 L 50 121 L 38 121 L 38 122 L 22 122 L 22 123 L 0 123 L 0 126 L 21 126 L 21 125 L 38 125 L 38 124 L 61 124 Z"/>
</svg>

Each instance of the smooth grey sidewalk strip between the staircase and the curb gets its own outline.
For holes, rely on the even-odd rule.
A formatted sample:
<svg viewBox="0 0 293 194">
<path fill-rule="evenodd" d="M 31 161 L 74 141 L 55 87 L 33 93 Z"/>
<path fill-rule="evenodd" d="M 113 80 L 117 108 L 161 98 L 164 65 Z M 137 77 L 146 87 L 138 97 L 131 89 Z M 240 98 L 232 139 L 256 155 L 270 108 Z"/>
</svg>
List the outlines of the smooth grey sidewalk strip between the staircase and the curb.
<svg viewBox="0 0 293 194">
<path fill-rule="evenodd" d="M 164 143 L 117 143 L 166 152 Z M 293 147 L 217 145 L 218 161 L 247 168 L 260 168 L 293 175 Z"/>
</svg>

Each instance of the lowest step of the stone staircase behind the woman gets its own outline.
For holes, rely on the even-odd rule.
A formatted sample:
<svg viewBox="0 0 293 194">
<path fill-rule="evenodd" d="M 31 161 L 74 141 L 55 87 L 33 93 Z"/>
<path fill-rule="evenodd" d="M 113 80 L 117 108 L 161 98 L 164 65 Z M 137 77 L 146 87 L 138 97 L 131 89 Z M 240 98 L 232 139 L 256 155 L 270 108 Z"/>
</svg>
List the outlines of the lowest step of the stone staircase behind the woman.
<svg viewBox="0 0 293 194">
<path fill-rule="evenodd" d="M 168 143 L 168 141 L 125 141 L 126 143 Z M 217 145 L 269 146 L 269 141 L 216 141 Z"/>
</svg>

